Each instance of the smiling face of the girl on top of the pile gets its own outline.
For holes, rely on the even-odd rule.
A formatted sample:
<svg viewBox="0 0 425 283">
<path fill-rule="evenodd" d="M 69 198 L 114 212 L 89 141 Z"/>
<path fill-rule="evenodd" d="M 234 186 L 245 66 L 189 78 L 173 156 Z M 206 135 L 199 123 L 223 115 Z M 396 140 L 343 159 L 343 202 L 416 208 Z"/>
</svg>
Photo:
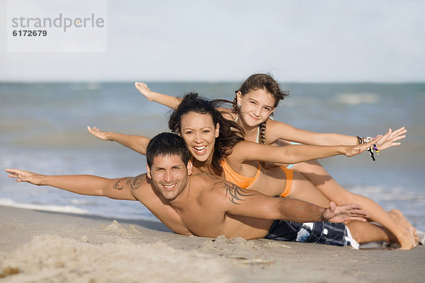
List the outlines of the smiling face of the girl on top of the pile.
<svg viewBox="0 0 425 283">
<path fill-rule="evenodd" d="M 244 96 L 240 92 L 237 93 L 237 103 L 239 105 L 239 116 L 244 124 L 249 127 L 260 125 L 276 110 L 275 98 L 262 88 L 249 91 Z"/>
</svg>

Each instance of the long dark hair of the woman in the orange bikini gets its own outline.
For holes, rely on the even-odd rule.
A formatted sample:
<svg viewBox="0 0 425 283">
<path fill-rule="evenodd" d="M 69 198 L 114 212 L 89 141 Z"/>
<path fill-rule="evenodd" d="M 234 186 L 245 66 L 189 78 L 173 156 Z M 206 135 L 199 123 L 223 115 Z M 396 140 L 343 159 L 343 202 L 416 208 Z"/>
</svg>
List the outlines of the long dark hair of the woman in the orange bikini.
<svg viewBox="0 0 425 283">
<path fill-rule="evenodd" d="M 181 132 L 181 118 L 189 112 L 208 114 L 212 117 L 214 126 L 220 125 L 220 134 L 215 139 L 214 152 L 212 154 L 212 168 L 222 173 L 220 161 L 232 153 L 232 148 L 239 141 L 244 140 L 244 130 L 237 123 L 225 119 L 215 108 L 220 107 L 223 100 L 207 100 L 200 98 L 198 93 L 187 93 L 181 99 L 179 107 L 174 110 L 169 118 L 169 128 L 174 133 Z"/>
</svg>

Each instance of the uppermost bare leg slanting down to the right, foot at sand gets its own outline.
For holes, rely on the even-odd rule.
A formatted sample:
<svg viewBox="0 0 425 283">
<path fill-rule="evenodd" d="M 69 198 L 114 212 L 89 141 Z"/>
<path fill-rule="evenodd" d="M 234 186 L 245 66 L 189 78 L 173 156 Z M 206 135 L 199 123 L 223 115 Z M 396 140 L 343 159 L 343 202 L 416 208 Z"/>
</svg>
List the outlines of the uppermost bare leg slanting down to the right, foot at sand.
<svg viewBox="0 0 425 283">
<path fill-rule="evenodd" d="M 407 225 L 403 221 L 397 221 L 393 214 L 386 212 L 379 204 L 373 202 L 368 197 L 363 197 L 362 195 L 345 190 L 344 187 L 341 187 L 331 178 L 329 173 L 317 161 L 297 163 L 293 166 L 293 169 L 302 173 L 329 200 L 336 202 L 336 204 L 361 204 L 363 209 L 369 212 L 370 221 L 377 222 L 394 234 L 403 250 L 412 249 L 417 245 L 414 228 L 413 230 L 411 228 L 412 225 Z M 408 223 L 407 220 L 405 221 Z"/>
</svg>

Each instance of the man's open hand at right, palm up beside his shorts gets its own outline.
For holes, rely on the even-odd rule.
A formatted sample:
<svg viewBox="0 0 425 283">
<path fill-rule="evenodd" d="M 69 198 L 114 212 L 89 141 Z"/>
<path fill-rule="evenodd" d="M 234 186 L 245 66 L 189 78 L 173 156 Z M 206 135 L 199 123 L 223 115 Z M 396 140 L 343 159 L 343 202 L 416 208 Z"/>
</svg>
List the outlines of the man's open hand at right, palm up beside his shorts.
<svg viewBox="0 0 425 283">
<path fill-rule="evenodd" d="M 369 217 L 368 212 L 361 210 L 360 204 L 346 204 L 336 206 L 331 202 L 331 207 L 324 210 L 322 217 L 324 221 L 342 223 L 348 220 L 366 221 Z"/>
</svg>

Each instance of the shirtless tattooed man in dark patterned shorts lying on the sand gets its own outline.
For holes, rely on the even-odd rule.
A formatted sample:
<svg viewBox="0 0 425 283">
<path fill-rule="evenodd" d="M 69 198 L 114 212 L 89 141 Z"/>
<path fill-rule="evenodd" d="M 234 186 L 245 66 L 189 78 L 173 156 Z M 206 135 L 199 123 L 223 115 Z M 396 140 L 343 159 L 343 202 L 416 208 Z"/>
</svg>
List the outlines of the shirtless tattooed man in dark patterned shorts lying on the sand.
<svg viewBox="0 0 425 283">
<path fill-rule="evenodd" d="M 273 238 L 346 246 L 353 239 L 347 240 L 343 222 L 352 221 L 353 229 L 358 231 L 351 232 L 362 235 L 358 237 L 361 242 L 386 240 L 382 234 L 361 226 L 373 225 L 362 223 L 368 213 L 358 204 L 331 203 L 325 209 L 300 200 L 268 197 L 205 173 L 191 175 L 190 158 L 181 137 L 162 133 L 147 146 L 147 173 L 136 177 L 39 175 L 18 169 L 6 169 L 6 172 L 17 182 L 50 185 L 81 195 L 138 200 L 171 230 L 182 235 Z"/>
</svg>

